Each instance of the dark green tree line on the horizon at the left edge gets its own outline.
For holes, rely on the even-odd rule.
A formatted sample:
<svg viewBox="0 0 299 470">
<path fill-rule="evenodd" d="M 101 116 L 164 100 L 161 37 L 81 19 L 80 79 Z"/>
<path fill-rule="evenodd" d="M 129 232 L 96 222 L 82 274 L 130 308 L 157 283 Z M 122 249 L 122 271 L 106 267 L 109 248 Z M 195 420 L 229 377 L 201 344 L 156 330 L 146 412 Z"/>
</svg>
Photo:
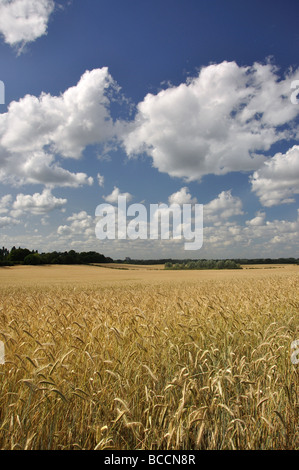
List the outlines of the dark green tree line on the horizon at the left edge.
<svg viewBox="0 0 299 470">
<path fill-rule="evenodd" d="M 16 248 L 9 251 L 7 248 L 0 249 L 0 266 L 14 266 L 15 264 L 42 265 L 42 264 L 90 264 L 90 263 L 113 263 L 113 259 L 95 251 L 77 253 L 74 250 L 51 253 L 38 253 L 37 250 L 28 248 Z"/>
</svg>

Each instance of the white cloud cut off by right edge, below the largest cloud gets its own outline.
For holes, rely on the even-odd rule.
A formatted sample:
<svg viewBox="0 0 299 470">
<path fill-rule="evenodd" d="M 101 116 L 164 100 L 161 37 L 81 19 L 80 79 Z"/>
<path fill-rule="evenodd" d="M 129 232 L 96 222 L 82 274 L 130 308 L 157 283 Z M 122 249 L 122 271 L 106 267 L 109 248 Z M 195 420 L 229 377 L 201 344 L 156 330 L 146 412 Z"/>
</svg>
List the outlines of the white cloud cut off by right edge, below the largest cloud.
<svg viewBox="0 0 299 470">
<path fill-rule="evenodd" d="M 277 153 L 253 173 L 252 191 L 263 206 L 294 202 L 299 194 L 299 146 L 294 145 L 285 154 Z"/>
</svg>

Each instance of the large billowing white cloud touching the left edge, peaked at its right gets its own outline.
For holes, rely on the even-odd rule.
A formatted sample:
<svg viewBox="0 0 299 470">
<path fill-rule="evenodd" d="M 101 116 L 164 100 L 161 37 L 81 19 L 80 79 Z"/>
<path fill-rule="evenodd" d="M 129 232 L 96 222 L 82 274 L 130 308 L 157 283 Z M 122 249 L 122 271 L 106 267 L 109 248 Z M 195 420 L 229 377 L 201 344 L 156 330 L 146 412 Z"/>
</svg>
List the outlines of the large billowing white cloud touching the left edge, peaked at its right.
<svg viewBox="0 0 299 470">
<path fill-rule="evenodd" d="M 0 180 L 49 186 L 92 184 L 62 168 L 58 156 L 79 159 L 88 145 L 113 139 L 117 125 L 107 94 L 117 86 L 106 67 L 87 71 L 60 96 L 42 93 L 13 101 L 0 115 Z"/>
</svg>

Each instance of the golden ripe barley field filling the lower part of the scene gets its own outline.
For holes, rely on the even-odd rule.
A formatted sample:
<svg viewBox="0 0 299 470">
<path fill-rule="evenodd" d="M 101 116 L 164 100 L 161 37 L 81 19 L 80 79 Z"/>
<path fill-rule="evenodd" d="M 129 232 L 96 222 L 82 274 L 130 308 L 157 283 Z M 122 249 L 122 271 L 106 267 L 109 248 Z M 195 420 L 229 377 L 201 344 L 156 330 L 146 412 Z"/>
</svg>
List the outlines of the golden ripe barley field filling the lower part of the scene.
<svg viewBox="0 0 299 470">
<path fill-rule="evenodd" d="M 299 267 L 0 269 L 1 449 L 299 449 Z"/>
</svg>

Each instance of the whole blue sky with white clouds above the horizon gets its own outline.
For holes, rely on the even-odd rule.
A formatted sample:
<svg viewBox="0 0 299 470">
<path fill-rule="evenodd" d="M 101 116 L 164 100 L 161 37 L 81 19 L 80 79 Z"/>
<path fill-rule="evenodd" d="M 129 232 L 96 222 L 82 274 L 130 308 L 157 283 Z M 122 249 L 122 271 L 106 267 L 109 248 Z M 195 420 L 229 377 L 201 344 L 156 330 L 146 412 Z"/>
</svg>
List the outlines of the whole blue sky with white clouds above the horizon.
<svg viewBox="0 0 299 470">
<path fill-rule="evenodd" d="M 0 0 L 1 246 L 298 258 L 298 17 L 297 0 Z M 202 247 L 100 240 L 96 208 L 121 195 L 202 204 Z"/>
</svg>

